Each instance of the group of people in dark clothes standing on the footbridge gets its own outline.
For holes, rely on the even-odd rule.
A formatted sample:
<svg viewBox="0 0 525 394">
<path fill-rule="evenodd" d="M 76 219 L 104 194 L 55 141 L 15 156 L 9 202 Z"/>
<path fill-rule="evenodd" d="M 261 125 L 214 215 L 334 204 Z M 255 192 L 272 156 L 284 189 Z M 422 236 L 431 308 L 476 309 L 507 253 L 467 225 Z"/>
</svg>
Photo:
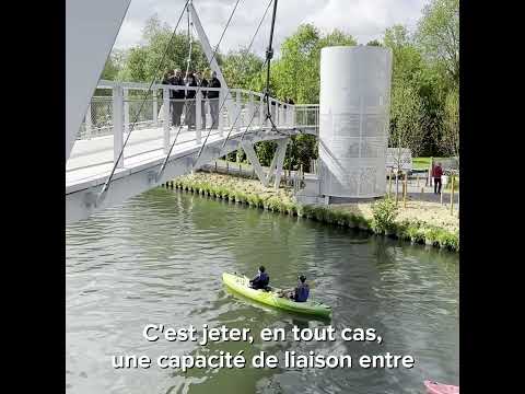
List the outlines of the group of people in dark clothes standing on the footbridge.
<svg viewBox="0 0 525 394">
<path fill-rule="evenodd" d="M 217 72 L 211 72 L 211 79 L 206 79 L 206 72 L 188 71 L 183 78 L 183 72 L 179 69 L 167 71 L 164 74 L 162 84 L 170 84 L 180 86 L 177 90 L 170 90 L 170 112 L 172 115 L 172 125 L 180 126 L 180 117 L 183 113 L 184 123 L 188 129 L 196 128 L 196 90 L 187 90 L 186 86 L 200 88 L 202 100 L 200 102 L 200 116 L 202 129 L 206 129 L 207 105 L 211 117 L 211 128 L 218 128 L 219 125 L 219 92 L 208 91 L 206 88 L 221 88 L 221 81 L 217 78 Z M 185 107 L 186 105 L 186 107 Z"/>
</svg>

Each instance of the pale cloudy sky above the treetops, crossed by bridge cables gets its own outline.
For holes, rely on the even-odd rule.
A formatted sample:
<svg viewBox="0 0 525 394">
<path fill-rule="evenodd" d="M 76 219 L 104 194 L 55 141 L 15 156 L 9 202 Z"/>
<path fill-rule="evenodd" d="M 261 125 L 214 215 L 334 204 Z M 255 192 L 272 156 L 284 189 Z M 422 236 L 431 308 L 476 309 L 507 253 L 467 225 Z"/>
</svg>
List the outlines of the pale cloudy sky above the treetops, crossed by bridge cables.
<svg viewBox="0 0 525 394">
<path fill-rule="evenodd" d="M 270 0 L 240 0 L 235 14 L 222 39 L 220 50 L 247 46 Z M 158 14 L 162 22 L 175 26 L 186 0 L 131 0 L 115 48 L 127 49 L 142 43 L 145 21 Z M 236 0 L 192 0 L 202 27 L 212 46 L 217 45 Z M 404 24 L 413 30 L 428 0 L 280 0 L 278 1 L 273 48 L 279 55 L 282 40 L 301 23 L 313 23 L 323 33 L 339 28 L 351 34 L 359 44 L 380 39 L 386 27 Z M 270 34 L 272 5 L 262 22 L 252 50 L 265 56 Z M 184 15 L 178 27 L 187 32 Z"/>
</svg>

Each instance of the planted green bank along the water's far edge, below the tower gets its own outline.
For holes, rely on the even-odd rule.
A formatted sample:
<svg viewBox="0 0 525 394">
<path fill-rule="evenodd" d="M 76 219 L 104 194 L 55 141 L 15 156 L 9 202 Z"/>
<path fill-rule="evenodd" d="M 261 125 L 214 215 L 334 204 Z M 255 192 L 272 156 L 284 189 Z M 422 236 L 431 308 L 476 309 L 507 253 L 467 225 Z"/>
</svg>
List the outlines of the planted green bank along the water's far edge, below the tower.
<svg viewBox="0 0 525 394">
<path fill-rule="evenodd" d="M 301 205 L 294 200 L 290 188 L 275 190 L 249 177 L 205 172 L 179 176 L 166 186 L 416 244 L 459 251 L 457 217 L 431 201 L 410 200 L 406 207 L 400 202 L 397 208 L 385 200 L 335 206 Z"/>
</svg>

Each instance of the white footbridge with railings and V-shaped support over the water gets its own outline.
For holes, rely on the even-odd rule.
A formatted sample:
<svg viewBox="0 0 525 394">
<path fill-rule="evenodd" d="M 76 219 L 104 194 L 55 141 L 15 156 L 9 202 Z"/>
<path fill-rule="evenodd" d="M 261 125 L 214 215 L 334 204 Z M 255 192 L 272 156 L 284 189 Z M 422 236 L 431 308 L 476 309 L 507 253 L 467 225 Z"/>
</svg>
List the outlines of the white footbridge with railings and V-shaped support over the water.
<svg viewBox="0 0 525 394">
<path fill-rule="evenodd" d="M 173 126 L 172 115 L 165 108 L 174 102 L 168 99 L 168 91 L 176 89 L 162 84 L 150 89 L 144 83 L 98 83 L 66 165 L 67 222 L 120 204 L 240 148 L 265 185 L 272 176 L 275 185 L 279 185 L 290 137 L 299 132 L 317 135 L 318 105 L 291 105 L 270 99 L 276 126 L 272 127 L 266 116 L 264 95 L 242 89 L 178 86 L 197 90 L 197 94 L 195 100 L 186 100 L 185 105 L 190 107 L 183 111 L 183 126 Z M 205 91 L 218 91 L 218 102 L 230 103 L 222 105 L 217 125 L 212 124 L 209 100 L 202 99 Z M 145 100 L 144 92 L 149 94 Z M 189 117 L 184 117 L 191 112 L 195 127 L 188 129 Z M 278 149 L 269 173 L 264 173 L 254 144 L 268 140 L 275 140 Z M 107 190 L 101 194 L 114 167 Z"/>
</svg>

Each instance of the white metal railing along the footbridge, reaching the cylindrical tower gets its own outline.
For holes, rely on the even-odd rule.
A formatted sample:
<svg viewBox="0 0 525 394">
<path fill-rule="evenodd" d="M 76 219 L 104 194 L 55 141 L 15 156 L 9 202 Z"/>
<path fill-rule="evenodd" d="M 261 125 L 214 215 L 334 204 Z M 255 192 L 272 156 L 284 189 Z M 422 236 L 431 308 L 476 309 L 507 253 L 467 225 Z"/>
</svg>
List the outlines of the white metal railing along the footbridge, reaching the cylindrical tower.
<svg viewBox="0 0 525 394">
<path fill-rule="evenodd" d="M 186 106 L 182 111 L 183 124 L 188 123 L 187 120 L 191 118 L 191 113 L 194 112 L 196 126 L 200 126 L 199 129 L 203 129 L 205 125 L 202 123 L 206 123 L 206 127 L 209 128 L 212 124 L 212 118 L 210 102 L 205 95 L 208 92 L 218 91 L 220 96 L 219 103 L 222 104 L 226 94 L 224 89 L 218 88 L 199 89 L 195 86 L 159 84 L 152 86 L 151 92 L 144 100 L 144 92 L 148 91 L 148 88 L 149 85 L 145 83 L 101 81 L 86 111 L 77 139 L 84 140 L 113 135 L 116 120 L 115 111 L 118 113 L 118 117 L 120 117 L 117 124 L 124 127 L 124 132 L 129 130 L 132 123 L 135 123 L 133 129 L 163 128 L 166 120 L 168 127 L 173 126 L 171 114 L 164 116 L 166 103 L 163 96 L 165 90 L 167 90 L 168 94 L 170 91 L 184 91 L 187 93 L 188 91 L 200 90 L 194 100 L 168 100 L 170 104 L 167 106 L 175 102 L 185 102 Z M 231 89 L 225 104 L 222 106 L 219 124 L 214 125 L 214 128 L 221 134 L 224 130 L 229 131 L 232 126 L 234 126 L 234 129 L 241 129 L 248 125 L 262 128 L 270 126 L 266 119 L 267 105 L 264 103 L 261 93 L 244 89 Z M 187 106 L 190 106 L 190 108 L 187 108 Z M 199 107 L 201 121 L 197 119 Z M 118 108 L 121 109 L 119 111 Z M 202 111 L 205 112 L 203 119 Z M 270 111 L 272 120 L 278 127 L 294 127 L 295 125 L 302 127 L 315 126 L 314 123 L 317 119 L 318 112 L 317 106 L 296 106 L 272 97 L 270 97 Z M 190 115 L 188 119 L 185 119 L 186 114 Z M 137 115 L 139 116 L 137 117 Z"/>
</svg>

